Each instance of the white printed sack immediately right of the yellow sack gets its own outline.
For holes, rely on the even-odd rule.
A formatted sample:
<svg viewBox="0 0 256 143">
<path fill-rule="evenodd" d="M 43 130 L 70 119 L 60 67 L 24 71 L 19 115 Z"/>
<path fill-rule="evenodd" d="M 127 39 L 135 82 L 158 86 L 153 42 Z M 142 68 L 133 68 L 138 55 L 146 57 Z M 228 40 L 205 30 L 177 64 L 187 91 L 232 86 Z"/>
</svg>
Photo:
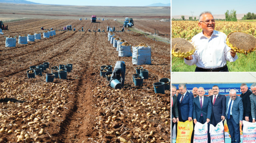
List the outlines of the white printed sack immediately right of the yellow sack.
<svg viewBox="0 0 256 143">
<path fill-rule="evenodd" d="M 195 124 L 194 128 L 194 139 L 193 143 L 208 143 L 208 124 L 199 123 L 198 121 Z"/>
</svg>

